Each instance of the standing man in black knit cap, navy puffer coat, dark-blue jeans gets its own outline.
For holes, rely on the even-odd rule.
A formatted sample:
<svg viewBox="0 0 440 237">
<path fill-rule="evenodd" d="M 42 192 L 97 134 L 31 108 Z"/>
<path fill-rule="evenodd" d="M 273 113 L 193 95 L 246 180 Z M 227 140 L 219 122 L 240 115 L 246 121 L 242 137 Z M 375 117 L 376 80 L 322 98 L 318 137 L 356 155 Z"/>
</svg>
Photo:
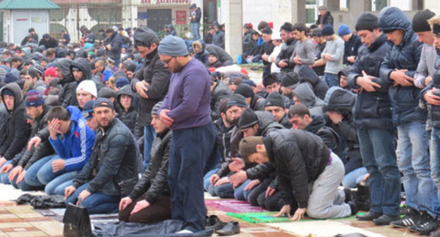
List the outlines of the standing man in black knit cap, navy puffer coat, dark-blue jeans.
<svg viewBox="0 0 440 237">
<path fill-rule="evenodd" d="M 386 43 L 386 35 L 379 30 L 379 20 L 372 13 L 363 13 L 355 28 L 364 45 L 358 51 L 347 82 L 350 88 L 363 89 L 357 95 L 353 116 L 371 193 L 369 212 L 357 219 L 374 221 L 382 215 L 381 219 L 396 219 L 401 193 L 395 152 L 396 128 L 391 121 L 389 81 L 379 76 L 381 63 L 391 45 Z"/>
</svg>

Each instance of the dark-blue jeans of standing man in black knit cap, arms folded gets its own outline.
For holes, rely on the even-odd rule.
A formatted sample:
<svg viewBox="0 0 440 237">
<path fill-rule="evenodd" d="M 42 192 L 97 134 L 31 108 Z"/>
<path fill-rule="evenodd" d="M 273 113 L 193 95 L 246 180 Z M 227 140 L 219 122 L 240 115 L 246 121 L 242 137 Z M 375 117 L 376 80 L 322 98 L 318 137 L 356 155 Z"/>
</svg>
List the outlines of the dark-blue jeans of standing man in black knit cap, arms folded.
<svg viewBox="0 0 440 237">
<path fill-rule="evenodd" d="M 369 173 L 370 212 L 396 215 L 401 203 L 401 177 L 394 129 L 357 129 L 362 163 Z"/>
</svg>

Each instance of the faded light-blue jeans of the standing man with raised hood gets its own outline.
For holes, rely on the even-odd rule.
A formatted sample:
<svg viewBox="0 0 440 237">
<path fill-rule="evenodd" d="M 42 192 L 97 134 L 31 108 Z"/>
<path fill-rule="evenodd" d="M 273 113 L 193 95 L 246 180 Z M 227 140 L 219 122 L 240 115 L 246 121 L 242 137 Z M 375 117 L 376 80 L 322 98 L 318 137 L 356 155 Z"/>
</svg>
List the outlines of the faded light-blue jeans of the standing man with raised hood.
<svg viewBox="0 0 440 237">
<path fill-rule="evenodd" d="M 397 127 L 399 169 L 403 173 L 405 204 L 427 210 L 434 215 L 438 206 L 434 181 L 431 178 L 428 154 L 428 133 L 424 121 L 412 121 Z"/>
</svg>

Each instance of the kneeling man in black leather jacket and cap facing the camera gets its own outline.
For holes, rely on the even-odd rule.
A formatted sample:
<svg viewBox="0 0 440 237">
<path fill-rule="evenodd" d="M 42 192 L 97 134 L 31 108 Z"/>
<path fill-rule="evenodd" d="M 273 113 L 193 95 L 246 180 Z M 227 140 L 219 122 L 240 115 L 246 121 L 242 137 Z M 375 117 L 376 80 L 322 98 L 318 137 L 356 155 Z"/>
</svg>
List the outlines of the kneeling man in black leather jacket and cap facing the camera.
<svg viewBox="0 0 440 237">
<path fill-rule="evenodd" d="M 67 203 L 79 203 L 90 214 L 117 212 L 121 197 L 138 182 L 139 147 L 133 134 L 119 119 L 110 99 L 93 104 L 99 130 L 93 153 L 84 168 L 64 190 Z M 78 201 L 77 201 L 78 200 Z"/>
</svg>

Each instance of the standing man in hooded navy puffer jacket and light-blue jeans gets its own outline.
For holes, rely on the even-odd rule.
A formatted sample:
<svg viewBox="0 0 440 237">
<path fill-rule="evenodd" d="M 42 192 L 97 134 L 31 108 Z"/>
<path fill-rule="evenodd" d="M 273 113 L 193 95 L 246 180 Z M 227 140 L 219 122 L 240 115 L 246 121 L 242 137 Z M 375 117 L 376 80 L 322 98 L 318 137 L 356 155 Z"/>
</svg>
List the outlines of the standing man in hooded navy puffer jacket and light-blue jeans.
<svg viewBox="0 0 440 237">
<path fill-rule="evenodd" d="M 420 61 L 422 42 L 417 40 L 412 30 L 408 16 L 396 7 L 382 9 L 379 18 L 379 28 L 386 33 L 392 43 L 389 54 L 386 54 L 380 67 L 381 80 L 392 83 L 389 87 L 393 123 L 398 131 L 397 152 L 400 154 L 399 169 L 403 173 L 403 187 L 405 188 L 405 204 L 412 208 L 407 217 L 386 218 L 375 221 L 376 224 L 386 224 L 392 221 L 394 226 L 415 228 L 428 222 L 431 231 L 439 225 L 436 221 L 434 207 L 438 201 L 434 200 L 434 181 L 431 178 L 429 154 L 426 147 L 428 133 L 426 130 L 427 111 L 419 108 L 420 88 L 414 85 L 414 75 Z M 435 204 L 437 203 L 437 204 Z M 415 212 L 413 212 L 415 211 Z M 419 212 L 423 214 L 420 215 Z M 412 219 L 408 224 L 407 219 Z M 429 232 L 427 232 L 429 233 Z"/>
</svg>

